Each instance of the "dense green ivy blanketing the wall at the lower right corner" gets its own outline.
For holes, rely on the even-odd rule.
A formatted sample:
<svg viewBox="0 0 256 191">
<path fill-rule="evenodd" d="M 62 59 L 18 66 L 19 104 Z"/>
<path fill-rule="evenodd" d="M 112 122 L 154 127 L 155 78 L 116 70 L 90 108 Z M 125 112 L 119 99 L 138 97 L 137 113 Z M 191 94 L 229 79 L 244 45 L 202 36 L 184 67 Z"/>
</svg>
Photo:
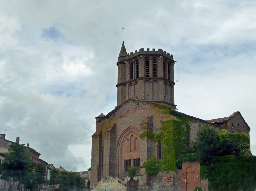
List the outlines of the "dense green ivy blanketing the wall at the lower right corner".
<svg viewBox="0 0 256 191">
<path fill-rule="evenodd" d="M 209 190 L 255 190 L 256 156 L 215 156 L 212 162 L 211 165 L 201 168 L 201 178 L 208 179 Z"/>
</svg>

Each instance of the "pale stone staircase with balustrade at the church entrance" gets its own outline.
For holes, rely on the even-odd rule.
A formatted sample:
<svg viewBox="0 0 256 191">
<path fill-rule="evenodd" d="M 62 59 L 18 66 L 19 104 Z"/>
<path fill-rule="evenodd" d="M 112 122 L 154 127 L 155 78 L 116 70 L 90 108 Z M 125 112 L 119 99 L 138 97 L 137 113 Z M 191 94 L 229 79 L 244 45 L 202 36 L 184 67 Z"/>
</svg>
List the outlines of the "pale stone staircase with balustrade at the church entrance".
<svg viewBox="0 0 256 191">
<path fill-rule="evenodd" d="M 106 176 L 93 185 L 92 191 L 126 191 L 127 184 L 116 176 Z"/>
</svg>

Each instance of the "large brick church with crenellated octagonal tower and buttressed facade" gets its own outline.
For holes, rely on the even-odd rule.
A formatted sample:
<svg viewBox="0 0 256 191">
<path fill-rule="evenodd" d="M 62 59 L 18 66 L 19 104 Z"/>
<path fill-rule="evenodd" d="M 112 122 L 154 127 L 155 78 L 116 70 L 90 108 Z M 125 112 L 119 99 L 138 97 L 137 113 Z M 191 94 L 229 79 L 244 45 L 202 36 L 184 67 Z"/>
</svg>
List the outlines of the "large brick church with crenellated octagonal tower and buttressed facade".
<svg viewBox="0 0 256 191">
<path fill-rule="evenodd" d="M 206 121 L 176 111 L 175 62 L 173 55 L 162 49 L 139 49 L 127 54 L 123 42 L 117 62 L 117 107 L 107 115 L 101 113 L 96 117 L 96 132 L 92 135 L 92 190 L 126 190 L 127 165 L 139 167 L 152 153 L 162 159 L 161 141 L 153 141 L 149 135 L 161 134 L 168 120 L 179 120 L 172 113 L 188 120 L 187 146 L 195 141 L 196 133 L 205 123 L 216 131 L 224 128 L 249 136 L 250 127 L 240 112 Z M 197 182 L 193 184 L 205 184 L 207 190 L 207 181 L 201 181 L 198 175 L 200 166 L 194 166 L 198 169 L 195 170 Z M 151 179 L 145 175 L 136 178 L 140 190 L 191 190 L 186 187 L 186 177 L 186 171 L 177 170 L 160 172 Z"/>
</svg>

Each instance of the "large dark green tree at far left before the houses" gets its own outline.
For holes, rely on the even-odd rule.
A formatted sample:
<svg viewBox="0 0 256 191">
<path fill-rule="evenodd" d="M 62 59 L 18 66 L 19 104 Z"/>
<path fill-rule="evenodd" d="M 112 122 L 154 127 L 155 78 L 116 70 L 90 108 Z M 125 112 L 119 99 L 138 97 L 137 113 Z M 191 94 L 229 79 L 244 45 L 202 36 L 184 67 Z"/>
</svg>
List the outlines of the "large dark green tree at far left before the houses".
<svg viewBox="0 0 256 191">
<path fill-rule="evenodd" d="M 32 175 L 32 160 L 24 145 L 18 143 L 10 145 L 9 153 L 0 166 L 1 179 L 8 180 L 8 184 L 12 178 L 13 181 L 19 181 L 21 186 L 22 179 L 27 180 Z"/>
</svg>

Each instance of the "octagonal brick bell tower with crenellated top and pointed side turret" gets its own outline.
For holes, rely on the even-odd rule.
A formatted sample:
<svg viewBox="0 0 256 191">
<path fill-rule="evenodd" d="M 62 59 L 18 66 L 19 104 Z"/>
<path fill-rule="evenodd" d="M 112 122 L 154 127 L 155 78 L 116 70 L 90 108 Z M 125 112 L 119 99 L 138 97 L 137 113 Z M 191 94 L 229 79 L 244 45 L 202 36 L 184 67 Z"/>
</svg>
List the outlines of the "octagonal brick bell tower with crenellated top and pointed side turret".
<svg viewBox="0 0 256 191">
<path fill-rule="evenodd" d="M 118 56 L 117 105 L 129 98 L 174 105 L 173 55 L 162 49 L 126 53 L 124 42 Z"/>
</svg>

